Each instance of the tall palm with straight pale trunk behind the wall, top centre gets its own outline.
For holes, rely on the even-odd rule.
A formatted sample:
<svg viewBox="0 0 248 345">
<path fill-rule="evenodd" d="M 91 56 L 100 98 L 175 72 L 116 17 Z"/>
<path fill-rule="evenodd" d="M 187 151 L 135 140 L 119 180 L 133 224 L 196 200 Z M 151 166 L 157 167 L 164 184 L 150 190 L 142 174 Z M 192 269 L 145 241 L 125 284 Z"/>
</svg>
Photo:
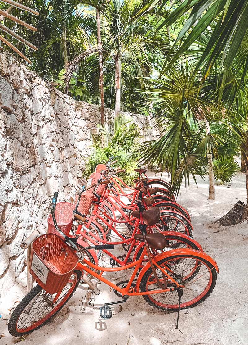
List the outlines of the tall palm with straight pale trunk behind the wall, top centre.
<svg viewBox="0 0 248 345">
<path fill-rule="evenodd" d="M 99 9 L 102 15 L 102 47 L 105 63 L 112 61 L 115 69 L 115 116 L 121 109 L 121 65 L 122 61 L 135 66 L 136 76 L 142 77 L 140 66 L 141 57 L 144 60 L 147 52 L 157 57 L 158 50 L 162 53 L 168 51 L 168 41 L 159 32 L 156 32 L 155 24 L 152 24 L 151 13 L 158 1 L 127 1 L 110 0 L 107 6 L 99 6 L 96 1 L 74 0 L 74 3 L 86 3 Z M 89 55 L 92 50 L 89 50 Z M 82 55 L 85 58 L 85 54 Z M 71 64 L 74 64 L 71 61 Z M 67 82 L 71 75 L 66 75 Z"/>
</svg>

